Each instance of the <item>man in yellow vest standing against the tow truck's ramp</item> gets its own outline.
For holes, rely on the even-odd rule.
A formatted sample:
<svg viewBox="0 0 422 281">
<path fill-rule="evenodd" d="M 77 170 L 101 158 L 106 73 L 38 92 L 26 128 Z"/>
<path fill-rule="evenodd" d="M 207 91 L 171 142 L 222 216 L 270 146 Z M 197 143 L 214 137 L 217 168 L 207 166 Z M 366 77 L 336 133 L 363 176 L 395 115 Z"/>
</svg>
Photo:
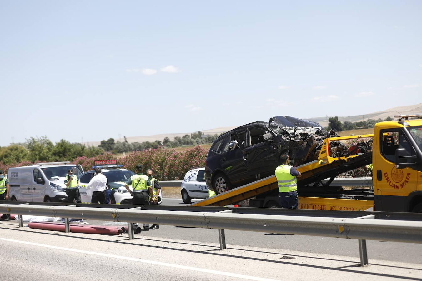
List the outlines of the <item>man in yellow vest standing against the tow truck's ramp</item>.
<svg viewBox="0 0 422 281">
<path fill-rule="evenodd" d="M 275 174 L 279 185 L 280 205 L 283 209 L 298 209 L 297 179 L 302 177 L 299 171 L 289 165 L 290 158 L 287 154 L 280 156 L 281 165 L 276 168 Z"/>
</svg>

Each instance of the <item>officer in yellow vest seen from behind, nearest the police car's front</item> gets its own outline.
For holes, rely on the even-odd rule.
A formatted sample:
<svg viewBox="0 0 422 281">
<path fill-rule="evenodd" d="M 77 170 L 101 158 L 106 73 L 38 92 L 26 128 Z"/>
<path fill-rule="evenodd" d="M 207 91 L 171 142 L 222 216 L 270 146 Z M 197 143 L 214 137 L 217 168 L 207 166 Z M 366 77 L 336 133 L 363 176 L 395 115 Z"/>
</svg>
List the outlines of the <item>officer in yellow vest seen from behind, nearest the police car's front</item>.
<svg viewBox="0 0 422 281">
<path fill-rule="evenodd" d="M 124 184 L 126 190 L 132 194 L 132 204 L 134 205 L 149 205 L 149 195 L 152 198 L 152 185 L 148 176 L 142 174 L 142 165 L 138 164 L 135 167 L 135 173 Z M 132 191 L 129 189 L 132 185 Z M 149 230 L 148 224 L 143 224 L 143 230 Z"/>
</svg>

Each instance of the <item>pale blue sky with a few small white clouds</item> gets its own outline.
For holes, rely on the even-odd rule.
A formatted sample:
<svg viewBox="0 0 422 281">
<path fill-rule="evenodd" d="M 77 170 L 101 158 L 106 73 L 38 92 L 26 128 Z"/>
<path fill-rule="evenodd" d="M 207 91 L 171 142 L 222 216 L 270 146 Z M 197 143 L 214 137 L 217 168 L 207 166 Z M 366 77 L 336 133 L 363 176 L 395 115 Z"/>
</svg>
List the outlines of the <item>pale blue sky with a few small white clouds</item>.
<svg viewBox="0 0 422 281">
<path fill-rule="evenodd" d="M 1 1 L 0 145 L 421 102 L 421 1 Z"/>
</svg>

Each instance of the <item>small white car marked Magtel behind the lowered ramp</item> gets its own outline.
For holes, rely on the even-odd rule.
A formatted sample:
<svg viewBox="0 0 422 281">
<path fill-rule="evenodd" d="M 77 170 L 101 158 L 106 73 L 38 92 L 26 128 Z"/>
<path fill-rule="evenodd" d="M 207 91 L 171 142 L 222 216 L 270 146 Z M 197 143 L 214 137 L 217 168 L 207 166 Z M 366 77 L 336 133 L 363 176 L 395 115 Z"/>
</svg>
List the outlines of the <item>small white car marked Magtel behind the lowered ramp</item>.
<svg viewBox="0 0 422 281">
<path fill-rule="evenodd" d="M 181 185 L 182 200 L 190 203 L 192 198 L 208 198 L 208 187 L 205 184 L 205 168 L 188 171 Z"/>
</svg>

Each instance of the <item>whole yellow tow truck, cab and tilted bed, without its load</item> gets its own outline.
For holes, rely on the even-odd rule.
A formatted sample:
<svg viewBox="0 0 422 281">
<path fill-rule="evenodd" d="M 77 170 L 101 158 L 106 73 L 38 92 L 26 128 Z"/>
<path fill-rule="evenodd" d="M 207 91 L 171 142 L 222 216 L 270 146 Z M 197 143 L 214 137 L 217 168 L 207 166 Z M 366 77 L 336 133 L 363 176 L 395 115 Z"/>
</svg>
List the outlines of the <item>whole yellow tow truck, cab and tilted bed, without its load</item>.
<svg viewBox="0 0 422 281">
<path fill-rule="evenodd" d="M 317 160 L 295 167 L 302 174 L 299 209 L 422 212 L 422 115 L 395 118 L 376 123 L 373 134 L 324 139 Z M 330 141 L 357 139 L 372 140 L 372 151 L 337 157 L 330 150 Z M 373 190 L 330 185 L 338 174 L 371 163 Z M 276 178 L 260 179 L 191 206 L 225 206 L 246 199 L 250 207 L 279 207 Z"/>
</svg>

